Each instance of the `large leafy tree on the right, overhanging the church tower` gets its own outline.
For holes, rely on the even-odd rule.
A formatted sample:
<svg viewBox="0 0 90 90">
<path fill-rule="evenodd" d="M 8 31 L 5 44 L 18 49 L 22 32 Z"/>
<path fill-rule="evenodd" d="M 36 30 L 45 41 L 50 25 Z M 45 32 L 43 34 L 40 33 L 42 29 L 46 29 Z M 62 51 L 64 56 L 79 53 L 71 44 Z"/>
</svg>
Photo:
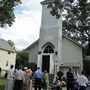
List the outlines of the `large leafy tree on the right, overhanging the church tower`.
<svg viewBox="0 0 90 90">
<path fill-rule="evenodd" d="M 51 0 L 47 6 L 51 15 L 60 18 L 60 11 L 66 11 L 63 16 L 63 33 L 83 46 L 90 47 L 90 1 L 89 0 Z M 90 51 L 90 50 L 89 50 Z"/>
</svg>

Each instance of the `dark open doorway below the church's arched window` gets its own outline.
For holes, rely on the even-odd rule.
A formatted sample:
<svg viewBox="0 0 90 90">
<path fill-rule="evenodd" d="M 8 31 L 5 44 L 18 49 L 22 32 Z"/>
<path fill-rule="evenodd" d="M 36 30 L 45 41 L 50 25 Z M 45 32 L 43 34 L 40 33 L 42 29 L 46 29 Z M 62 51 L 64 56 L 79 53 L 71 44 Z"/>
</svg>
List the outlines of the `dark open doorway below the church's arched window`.
<svg viewBox="0 0 90 90">
<path fill-rule="evenodd" d="M 50 55 L 43 55 L 42 56 L 42 71 L 47 70 L 49 73 L 49 67 L 50 67 Z"/>
</svg>

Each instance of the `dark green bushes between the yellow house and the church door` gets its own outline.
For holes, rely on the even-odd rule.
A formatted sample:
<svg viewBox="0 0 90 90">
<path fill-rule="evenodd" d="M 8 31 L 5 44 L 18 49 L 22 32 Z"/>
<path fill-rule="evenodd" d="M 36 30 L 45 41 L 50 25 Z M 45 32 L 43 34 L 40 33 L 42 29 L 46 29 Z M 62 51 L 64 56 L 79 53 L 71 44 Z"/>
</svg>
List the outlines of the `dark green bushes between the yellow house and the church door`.
<svg viewBox="0 0 90 90">
<path fill-rule="evenodd" d="M 17 51 L 17 56 L 16 56 L 16 65 L 15 67 L 18 68 L 19 66 L 23 67 L 28 67 L 31 68 L 32 71 L 36 70 L 37 64 L 29 62 L 29 52 L 26 50 L 22 51 Z"/>
</svg>

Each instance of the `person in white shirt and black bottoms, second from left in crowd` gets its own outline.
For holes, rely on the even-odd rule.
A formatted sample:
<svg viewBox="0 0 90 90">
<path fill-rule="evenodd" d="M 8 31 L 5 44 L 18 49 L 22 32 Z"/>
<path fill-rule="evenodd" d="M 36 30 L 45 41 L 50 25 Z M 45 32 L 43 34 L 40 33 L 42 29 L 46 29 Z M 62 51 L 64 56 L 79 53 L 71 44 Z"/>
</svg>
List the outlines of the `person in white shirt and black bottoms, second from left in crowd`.
<svg viewBox="0 0 90 90">
<path fill-rule="evenodd" d="M 23 89 L 23 82 L 25 81 L 24 77 L 25 73 L 22 71 L 21 66 L 15 73 L 15 82 L 14 82 L 14 89 L 13 90 L 22 90 Z"/>
</svg>

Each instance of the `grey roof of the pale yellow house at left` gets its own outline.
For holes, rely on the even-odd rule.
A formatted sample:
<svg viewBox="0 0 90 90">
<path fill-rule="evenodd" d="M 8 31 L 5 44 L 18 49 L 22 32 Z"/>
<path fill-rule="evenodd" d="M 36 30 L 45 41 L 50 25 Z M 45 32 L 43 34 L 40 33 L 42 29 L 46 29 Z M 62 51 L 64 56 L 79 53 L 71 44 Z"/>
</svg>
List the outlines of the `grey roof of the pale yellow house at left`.
<svg viewBox="0 0 90 90">
<path fill-rule="evenodd" d="M 0 49 L 15 52 L 15 50 L 4 39 L 0 39 Z"/>
</svg>

